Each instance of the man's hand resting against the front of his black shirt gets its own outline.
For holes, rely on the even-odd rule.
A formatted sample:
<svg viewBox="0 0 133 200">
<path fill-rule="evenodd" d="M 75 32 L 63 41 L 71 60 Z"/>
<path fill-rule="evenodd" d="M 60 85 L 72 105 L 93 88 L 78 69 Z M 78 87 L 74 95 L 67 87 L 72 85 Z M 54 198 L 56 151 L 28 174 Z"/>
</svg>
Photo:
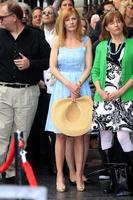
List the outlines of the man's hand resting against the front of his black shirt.
<svg viewBox="0 0 133 200">
<path fill-rule="evenodd" d="M 21 58 L 15 59 L 14 63 L 18 67 L 19 70 L 28 69 L 30 66 L 30 61 L 27 57 L 25 57 L 22 53 L 19 53 Z"/>
</svg>

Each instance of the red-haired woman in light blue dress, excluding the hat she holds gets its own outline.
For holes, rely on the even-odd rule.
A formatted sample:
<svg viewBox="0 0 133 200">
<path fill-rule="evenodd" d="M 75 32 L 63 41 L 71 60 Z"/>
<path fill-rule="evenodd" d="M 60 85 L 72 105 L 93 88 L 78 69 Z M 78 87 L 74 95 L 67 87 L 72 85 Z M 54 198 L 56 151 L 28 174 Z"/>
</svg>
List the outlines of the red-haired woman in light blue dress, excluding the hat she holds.
<svg viewBox="0 0 133 200">
<path fill-rule="evenodd" d="M 54 126 L 51 119 L 51 106 L 58 99 L 91 95 L 88 76 L 91 70 L 92 54 L 90 40 L 82 43 L 81 19 L 73 8 L 64 9 L 59 16 L 59 33 L 50 55 L 50 69 L 56 77 L 45 130 L 56 134 L 55 157 L 57 167 L 56 189 L 65 190 L 63 163 L 65 157 L 66 136 Z M 76 166 L 77 191 L 84 191 L 82 180 L 83 136 L 74 137 L 74 157 Z"/>
</svg>

